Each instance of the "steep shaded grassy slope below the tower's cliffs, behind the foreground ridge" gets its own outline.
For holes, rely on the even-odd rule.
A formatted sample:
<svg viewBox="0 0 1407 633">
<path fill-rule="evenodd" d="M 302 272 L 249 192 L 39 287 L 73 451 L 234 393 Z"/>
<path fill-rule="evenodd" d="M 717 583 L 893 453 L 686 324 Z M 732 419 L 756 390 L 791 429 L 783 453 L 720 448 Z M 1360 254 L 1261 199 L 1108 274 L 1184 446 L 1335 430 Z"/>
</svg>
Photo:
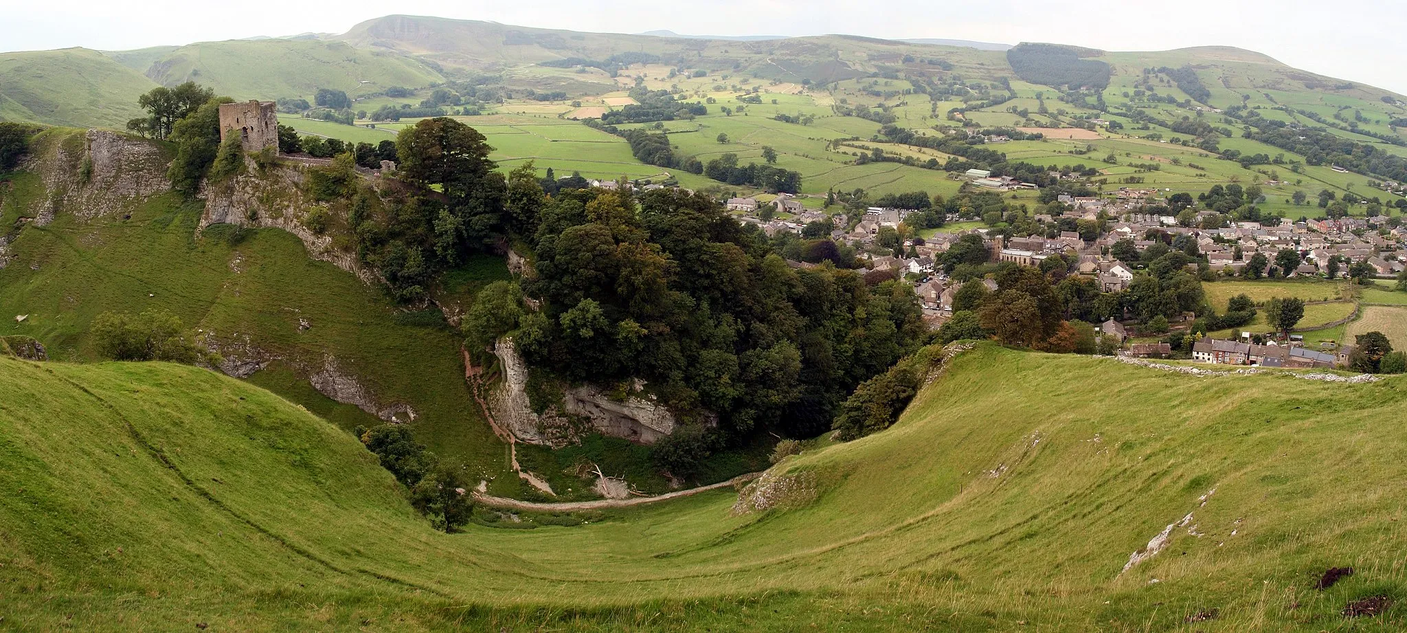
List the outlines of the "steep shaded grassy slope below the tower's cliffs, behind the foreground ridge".
<svg viewBox="0 0 1407 633">
<path fill-rule="evenodd" d="M 39 143 L 61 142 L 59 132 Z M 32 214 L 44 194 L 35 173 L 8 180 L 13 188 L 0 186 L 10 191 L 0 193 L 3 226 Z M 197 235 L 201 208 L 172 193 L 132 208 L 128 218 L 83 221 L 61 210 L 46 226 L 27 225 L 10 243 L 14 259 L 0 269 L 0 314 L 11 322 L 3 333 L 34 336 L 51 357 L 86 362 L 98 357 L 89 332 L 98 314 L 167 309 L 229 353 L 257 350 L 270 362 L 267 376 L 255 374 L 259 384 L 314 411 L 340 411 L 335 418 L 349 432 L 377 421 L 311 390 L 308 376 L 328 359 L 377 404 L 415 409 L 412 428 L 440 456 L 469 464 L 476 477 L 505 471 L 505 449 L 464 384 L 460 335 L 438 309 L 395 307 L 356 276 L 311 260 L 283 231 L 217 225 Z M 501 259 L 483 257 L 454 276 L 473 293 L 507 279 L 508 270 Z M 15 314 L 30 318 L 13 324 Z M 501 480 L 509 487 L 518 481 Z"/>
</svg>

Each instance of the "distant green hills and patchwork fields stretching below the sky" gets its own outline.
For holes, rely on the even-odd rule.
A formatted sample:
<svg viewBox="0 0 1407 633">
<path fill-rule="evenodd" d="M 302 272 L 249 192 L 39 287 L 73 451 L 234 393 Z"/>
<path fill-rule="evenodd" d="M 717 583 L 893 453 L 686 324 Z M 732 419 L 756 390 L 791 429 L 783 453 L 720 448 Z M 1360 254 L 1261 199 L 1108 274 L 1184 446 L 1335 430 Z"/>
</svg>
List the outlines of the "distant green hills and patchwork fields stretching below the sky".
<svg viewBox="0 0 1407 633">
<path fill-rule="evenodd" d="M 920 162 L 946 160 L 946 156 L 915 146 L 868 143 L 879 124 L 841 115 L 850 114 L 851 107 L 865 106 L 892 115 L 900 127 L 929 135 L 940 134 L 936 127 L 964 122 L 1040 128 L 1047 134 L 1044 141 L 1020 141 L 993 149 L 1012 160 L 1043 166 L 1093 165 L 1100 172 L 1100 188 L 1106 191 L 1123 184 L 1144 184 L 1162 188 L 1165 194 L 1200 194 L 1214 184 L 1259 184 L 1266 196 L 1259 210 L 1290 218 L 1317 215 L 1313 207 L 1292 204 L 1296 191 L 1310 198 L 1320 190 L 1338 196 L 1352 191 L 1379 197 L 1389 205 L 1399 200 L 1370 186 L 1375 180 L 1392 180 L 1382 173 L 1339 173 L 1328 165 L 1304 165 L 1307 156 L 1241 138 L 1242 124 L 1213 110 L 1244 104 L 1266 118 L 1324 128 L 1382 152 L 1407 156 L 1407 128 L 1393 125 L 1407 117 L 1401 106 L 1407 97 L 1297 70 L 1231 46 L 1088 53 L 1107 65 L 1112 73 L 1100 94 L 1107 107 L 1089 101 L 1092 93 L 1072 98 L 1051 86 L 1019 80 L 1003 51 L 850 35 L 764 41 L 668 38 L 387 15 L 321 39 L 200 42 L 110 52 L 104 53 L 107 58 L 89 53 L 96 59 L 86 63 L 98 65 L 94 69 L 72 70 L 72 62 L 51 59 L 55 53 L 10 55 L 11 68 L 0 66 L 4 70 L 0 82 L 8 76 L 11 86 L 0 90 L 0 117 L 120 125 L 134 114 L 135 94 L 149 89 L 152 80 L 173 84 L 187 79 L 236 98 L 307 98 L 318 87 L 342 89 L 360 98 L 355 110 L 373 113 L 381 106 L 416 106 L 432 97 L 432 84 L 449 80 L 464 82 L 452 87 L 483 111 L 560 121 L 618 110 L 629 103 L 625 91 L 640 84 L 651 90 L 677 90 L 689 100 L 713 101 L 706 117 L 667 124 L 680 149 L 705 160 L 723 152 L 749 160 L 763 146 L 771 146 L 779 155 L 778 165 L 801 173 L 803 191 L 813 196 L 854 188 L 864 188 L 872 197 L 916 190 L 944 196 L 955 191 L 957 183 L 944 172 L 898 163 L 854 165 L 857 155 L 872 149 Z M 578 65 L 557 68 L 563 60 Z M 42 82 L 42 77 L 68 72 L 82 73 L 82 80 Z M 77 94 L 77 89 L 93 84 L 100 84 L 101 90 Z M 473 96 L 469 84 L 484 97 Z M 414 91 L 397 97 L 378 94 L 390 86 Z M 722 115 L 723 107 L 736 110 L 743 106 L 739 98 L 751 91 L 760 91 L 761 103 L 749 106 L 746 113 L 739 111 L 741 117 Z M 539 101 L 543 93 L 561 94 L 553 101 Z M 1150 98 L 1150 93 L 1157 98 Z M 24 103 L 13 94 L 23 96 Z M 954 108 L 965 110 L 961 118 L 948 118 Z M 772 120 L 775 115 L 815 117 L 815 124 L 782 124 Z M 1092 118 L 1121 128 L 1072 129 L 1089 125 L 1085 120 Z M 1176 132 L 1173 128 L 1183 118 L 1224 131 L 1216 135 L 1216 149 L 1202 149 L 1188 132 Z M 291 121 L 308 134 L 353 141 L 386 136 L 378 131 Z M 470 122 L 491 124 L 481 118 Z M 727 134 L 730 143 L 715 143 L 719 134 Z M 830 143 L 851 136 L 860 141 Z M 601 176 L 656 172 L 633 158 L 618 167 L 619 148 L 609 148 L 609 156 L 598 158 L 597 152 L 581 152 L 564 143 L 521 152 L 516 145 L 523 138 L 514 138 L 511 132 L 490 139 L 502 145 L 499 158 L 536 158 L 539 166 L 552 162 L 559 172 L 571 169 Z M 557 141 L 556 136 L 549 139 Z M 1273 162 L 1242 166 L 1231 159 L 1237 155 L 1225 152 L 1263 155 Z M 1113 162 L 1106 162 L 1107 156 Z M 687 176 L 682 181 L 695 188 L 711 184 Z M 1017 203 L 1034 205 L 1036 194 L 1019 193 Z M 1351 208 L 1355 215 L 1365 211 L 1362 204 Z"/>
</svg>

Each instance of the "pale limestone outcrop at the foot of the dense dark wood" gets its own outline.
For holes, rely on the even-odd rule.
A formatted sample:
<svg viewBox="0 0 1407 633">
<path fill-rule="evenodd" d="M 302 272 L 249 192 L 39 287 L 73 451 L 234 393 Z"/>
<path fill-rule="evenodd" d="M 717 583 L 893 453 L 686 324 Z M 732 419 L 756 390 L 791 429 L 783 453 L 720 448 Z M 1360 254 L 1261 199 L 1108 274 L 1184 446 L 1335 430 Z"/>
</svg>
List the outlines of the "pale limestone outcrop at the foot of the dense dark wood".
<svg viewBox="0 0 1407 633">
<path fill-rule="evenodd" d="M 623 397 L 584 384 L 564 388 L 561 402 L 537 414 L 528 397 L 528 364 L 518 354 L 512 340 L 494 346 L 502 380 L 492 388 L 488 405 L 494 418 L 519 440 L 535 445 L 563 446 L 574 442 L 584 430 L 625 437 L 651 445 L 678 428 L 678 418 L 654 395 L 644 392 L 643 383 L 635 383 Z M 705 423 L 716 423 L 712 414 Z"/>
</svg>

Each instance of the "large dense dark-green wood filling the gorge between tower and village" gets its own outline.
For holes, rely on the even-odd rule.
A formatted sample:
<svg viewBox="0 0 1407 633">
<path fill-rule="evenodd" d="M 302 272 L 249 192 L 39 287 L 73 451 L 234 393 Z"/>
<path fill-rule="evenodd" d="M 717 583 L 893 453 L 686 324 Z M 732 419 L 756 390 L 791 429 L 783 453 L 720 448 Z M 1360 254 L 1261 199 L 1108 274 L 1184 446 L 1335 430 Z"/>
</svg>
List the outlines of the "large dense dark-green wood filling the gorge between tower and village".
<svg viewBox="0 0 1407 633">
<path fill-rule="evenodd" d="M 815 435 L 857 384 L 923 339 L 908 286 L 794 269 L 706 196 L 543 198 L 522 184 L 509 208 L 535 274 L 521 293 L 539 307 L 495 287 L 494 316 L 476 311 L 464 328 L 474 345 L 512 336 L 529 364 L 564 380 L 639 377 L 675 411 L 718 414 L 723 433 Z"/>
</svg>

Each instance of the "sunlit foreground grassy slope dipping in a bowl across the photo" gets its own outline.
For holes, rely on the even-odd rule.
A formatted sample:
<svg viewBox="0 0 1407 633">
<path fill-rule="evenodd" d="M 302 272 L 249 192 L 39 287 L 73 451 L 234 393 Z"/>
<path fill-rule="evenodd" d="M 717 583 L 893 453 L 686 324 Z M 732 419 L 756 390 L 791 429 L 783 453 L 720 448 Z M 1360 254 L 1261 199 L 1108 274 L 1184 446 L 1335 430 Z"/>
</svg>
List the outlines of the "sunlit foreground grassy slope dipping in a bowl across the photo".
<svg viewBox="0 0 1407 633">
<path fill-rule="evenodd" d="M 480 511 L 446 536 L 352 437 L 245 383 L 166 364 L 0 373 L 0 587 L 24 629 L 1407 623 L 1404 498 L 1382 484 L 1407 475 L 1401 378 L 1196 378 L 982 345 L 891 430 L 784 463 L 815 491 L 792 509 L 733 516 L 719 491 L 536 529 Z M 1330 565 L 1355 573 L 1314 589 Z M 1373 595 L 1396 602 L 1341 615 Z"/>
</svg>

